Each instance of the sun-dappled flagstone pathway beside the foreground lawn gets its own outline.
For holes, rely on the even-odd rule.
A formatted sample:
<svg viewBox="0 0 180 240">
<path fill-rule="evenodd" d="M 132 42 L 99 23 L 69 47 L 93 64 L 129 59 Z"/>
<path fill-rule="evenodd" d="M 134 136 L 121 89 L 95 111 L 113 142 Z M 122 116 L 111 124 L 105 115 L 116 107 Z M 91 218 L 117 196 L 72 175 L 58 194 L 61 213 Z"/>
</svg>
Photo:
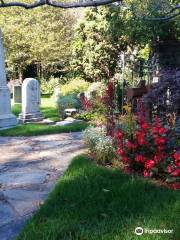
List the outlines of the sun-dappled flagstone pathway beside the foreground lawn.
<svg viewBox="0 0 180 240">
<path fill-rule="evenodd" d="M 12 240 L 84 151 L 81 133 L 0 137 L 0 240 Z"/>
</svg>

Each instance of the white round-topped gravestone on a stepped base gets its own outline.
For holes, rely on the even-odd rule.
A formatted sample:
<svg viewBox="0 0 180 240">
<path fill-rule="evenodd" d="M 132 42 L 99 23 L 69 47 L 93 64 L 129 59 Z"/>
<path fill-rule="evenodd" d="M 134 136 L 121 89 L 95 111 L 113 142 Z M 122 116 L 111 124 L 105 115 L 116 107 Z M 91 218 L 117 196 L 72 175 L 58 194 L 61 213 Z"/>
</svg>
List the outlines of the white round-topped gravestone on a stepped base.
<svg viewBox="0 0 180 240">
<path fill-rule="evenodd" d="M 43 120 L 40 112 L 40 86 L 34 78 L 26 78 L 22 84 L 22 113 L 20 122 L 39 122 Z"/>
</svg>

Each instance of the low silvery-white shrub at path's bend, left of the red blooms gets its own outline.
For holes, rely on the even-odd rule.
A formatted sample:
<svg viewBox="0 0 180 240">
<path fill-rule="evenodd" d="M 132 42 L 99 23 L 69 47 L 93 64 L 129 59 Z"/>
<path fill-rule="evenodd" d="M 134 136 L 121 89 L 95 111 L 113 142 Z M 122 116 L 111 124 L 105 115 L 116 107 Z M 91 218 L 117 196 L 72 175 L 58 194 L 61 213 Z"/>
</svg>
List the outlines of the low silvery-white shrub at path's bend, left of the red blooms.
<svg viewBox="0 0 180 240">
<path fill-rule="evenodd" d="M 111 163 L 114 158 L 112 138 L 107 136 L 105 127 L 88 127 L 83 133 L 86 146 L 95 156 L 98 163 Z"/>
</svg>

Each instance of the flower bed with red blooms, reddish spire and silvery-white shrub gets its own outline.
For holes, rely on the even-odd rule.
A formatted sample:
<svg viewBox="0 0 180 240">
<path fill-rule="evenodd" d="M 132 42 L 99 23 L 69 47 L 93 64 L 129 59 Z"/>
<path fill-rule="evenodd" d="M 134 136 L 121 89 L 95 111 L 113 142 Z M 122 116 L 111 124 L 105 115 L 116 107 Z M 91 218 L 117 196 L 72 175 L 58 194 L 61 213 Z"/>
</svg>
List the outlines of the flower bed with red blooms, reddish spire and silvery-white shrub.
<svg viewBox="0 0 180 240">
<path fill-rule="evenodd" d="M 112 164 L 115 160 L 125 171 L 180 188 L 180 146 L 175 128 L 157 115 L 152 123 L 147 122 L 142 102 L 136 114 L 126 106 L 126 114 L 117 124 L 114 89 L 109 82 L 102 97 L 106 125 L 90 127 L 84 132 L 85 143 L 94 158 L 101 164 Z"/>
</svg>

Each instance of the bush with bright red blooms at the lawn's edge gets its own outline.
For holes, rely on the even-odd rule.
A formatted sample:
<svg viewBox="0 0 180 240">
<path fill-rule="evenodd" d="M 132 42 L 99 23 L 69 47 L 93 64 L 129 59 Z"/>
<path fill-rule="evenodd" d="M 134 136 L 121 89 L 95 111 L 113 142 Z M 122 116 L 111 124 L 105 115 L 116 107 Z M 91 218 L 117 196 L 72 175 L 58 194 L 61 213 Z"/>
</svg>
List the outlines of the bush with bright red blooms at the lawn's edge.
<svg viewBox="0 0 180 240">
<path fill-rule="evenodd" d="M 137 120 L 137 130 L 131 139 L 121 129 L 114 133 L 117 155 L 129 170 L 143 173 L 144 177 L 160 177 L 164 180 L 180 177 L 180 152 L 169 138 L 170 129 L 164 127 L 158 117 L 154 124 L 145 118 Z"/>
</svg>

